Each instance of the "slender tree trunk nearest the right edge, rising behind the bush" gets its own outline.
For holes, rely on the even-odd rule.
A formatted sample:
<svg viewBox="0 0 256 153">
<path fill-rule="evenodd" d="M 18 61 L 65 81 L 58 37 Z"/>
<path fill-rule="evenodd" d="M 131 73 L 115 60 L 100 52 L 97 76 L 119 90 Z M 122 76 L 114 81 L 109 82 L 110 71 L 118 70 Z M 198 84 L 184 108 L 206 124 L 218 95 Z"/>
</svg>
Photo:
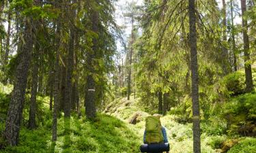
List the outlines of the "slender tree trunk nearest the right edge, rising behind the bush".
<svg viewBox="0 0 256 153">
<path fill-rule="evenodd" d="M 253 90 L 253 77 L 251 71 L 251 64 L 248 63 L 250 60 L 249 52 L 249 38 L 247 34 L 247 20 L 244 18 L 244 13 L 246 12 L 246 0 L 241 0 L 242 7 L 242 34 L 244 39 L 244 70 L 245 70 L 245 83 L 246 83 L 246 92 L 251 92 Z"/>
</svg>

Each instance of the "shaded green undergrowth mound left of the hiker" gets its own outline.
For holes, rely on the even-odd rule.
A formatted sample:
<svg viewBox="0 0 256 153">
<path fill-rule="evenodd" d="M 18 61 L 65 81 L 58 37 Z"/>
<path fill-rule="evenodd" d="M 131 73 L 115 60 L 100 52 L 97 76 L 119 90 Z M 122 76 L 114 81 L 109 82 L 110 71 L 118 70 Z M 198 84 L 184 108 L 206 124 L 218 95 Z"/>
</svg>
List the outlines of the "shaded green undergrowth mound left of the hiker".
<svg viewBox="0 0 256 153">
<path fill-rule="evenodd" d="M 139 137 L 121 120 L 98 114 L 95 122 L 85 117 L 58 120 L 57 141 L 51 142 L 51 121 L 36 130 L 23 127 L 16 147 L 7 147 L 1 153 L 35 152 L 139 152 Z"/>
</svg>

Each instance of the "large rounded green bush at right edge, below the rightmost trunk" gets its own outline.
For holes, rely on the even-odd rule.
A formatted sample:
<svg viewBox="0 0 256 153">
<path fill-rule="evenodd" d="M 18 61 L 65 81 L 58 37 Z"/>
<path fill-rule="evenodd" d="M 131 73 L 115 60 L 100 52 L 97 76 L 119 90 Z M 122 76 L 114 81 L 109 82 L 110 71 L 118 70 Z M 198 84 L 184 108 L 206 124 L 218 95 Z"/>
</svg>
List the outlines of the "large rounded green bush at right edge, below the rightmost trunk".
<svg viewBox="0 0 256 153">
<path fill-rule="evenodd" d="M 256 94 L 247 93 L 233 97 L 225 103 L 216 103 L 212 107 L 211 126 L 202 126 L 202 129 L 212 135 L 226 132 L 229 135 L 253 135 L 255 101 Z"/>
</svg>

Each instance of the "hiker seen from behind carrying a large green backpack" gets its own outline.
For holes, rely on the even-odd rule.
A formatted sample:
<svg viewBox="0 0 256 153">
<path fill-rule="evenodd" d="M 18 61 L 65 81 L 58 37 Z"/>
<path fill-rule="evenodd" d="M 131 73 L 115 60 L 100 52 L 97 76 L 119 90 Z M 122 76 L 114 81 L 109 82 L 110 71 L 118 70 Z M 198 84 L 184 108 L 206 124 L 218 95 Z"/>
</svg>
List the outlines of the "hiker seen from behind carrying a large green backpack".
<svg viewBox="0 0 256 153">
<path fill-rule="evenodd" d="M 165 126 L 161 125 L 160 116 L 160 114 L 154 114 L 146 118 L 146 127 L 143 135 L 144 143 L 168 143 L 167 131 Z"/>
</svg>

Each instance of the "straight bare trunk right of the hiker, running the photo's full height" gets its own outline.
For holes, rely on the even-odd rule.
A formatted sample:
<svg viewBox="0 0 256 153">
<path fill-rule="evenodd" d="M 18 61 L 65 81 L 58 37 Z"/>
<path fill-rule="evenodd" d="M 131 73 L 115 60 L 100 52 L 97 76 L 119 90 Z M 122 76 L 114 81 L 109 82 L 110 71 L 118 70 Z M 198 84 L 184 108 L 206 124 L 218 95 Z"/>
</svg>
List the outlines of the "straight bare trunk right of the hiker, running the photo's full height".
<svg viewBox="0 0 256 153">
<path fill-rule="evenodd" d="M 195 16 L 195 0 L 188 1 L 189 33 L 190 33 L 190 69 L 192 81 L 192 103 L 193 103 L 193 152 L 201 152 L 200 139 L 200 108 L 198 88 L 198 65 L 197 65 L 197 31 Z"/>
</svg>

